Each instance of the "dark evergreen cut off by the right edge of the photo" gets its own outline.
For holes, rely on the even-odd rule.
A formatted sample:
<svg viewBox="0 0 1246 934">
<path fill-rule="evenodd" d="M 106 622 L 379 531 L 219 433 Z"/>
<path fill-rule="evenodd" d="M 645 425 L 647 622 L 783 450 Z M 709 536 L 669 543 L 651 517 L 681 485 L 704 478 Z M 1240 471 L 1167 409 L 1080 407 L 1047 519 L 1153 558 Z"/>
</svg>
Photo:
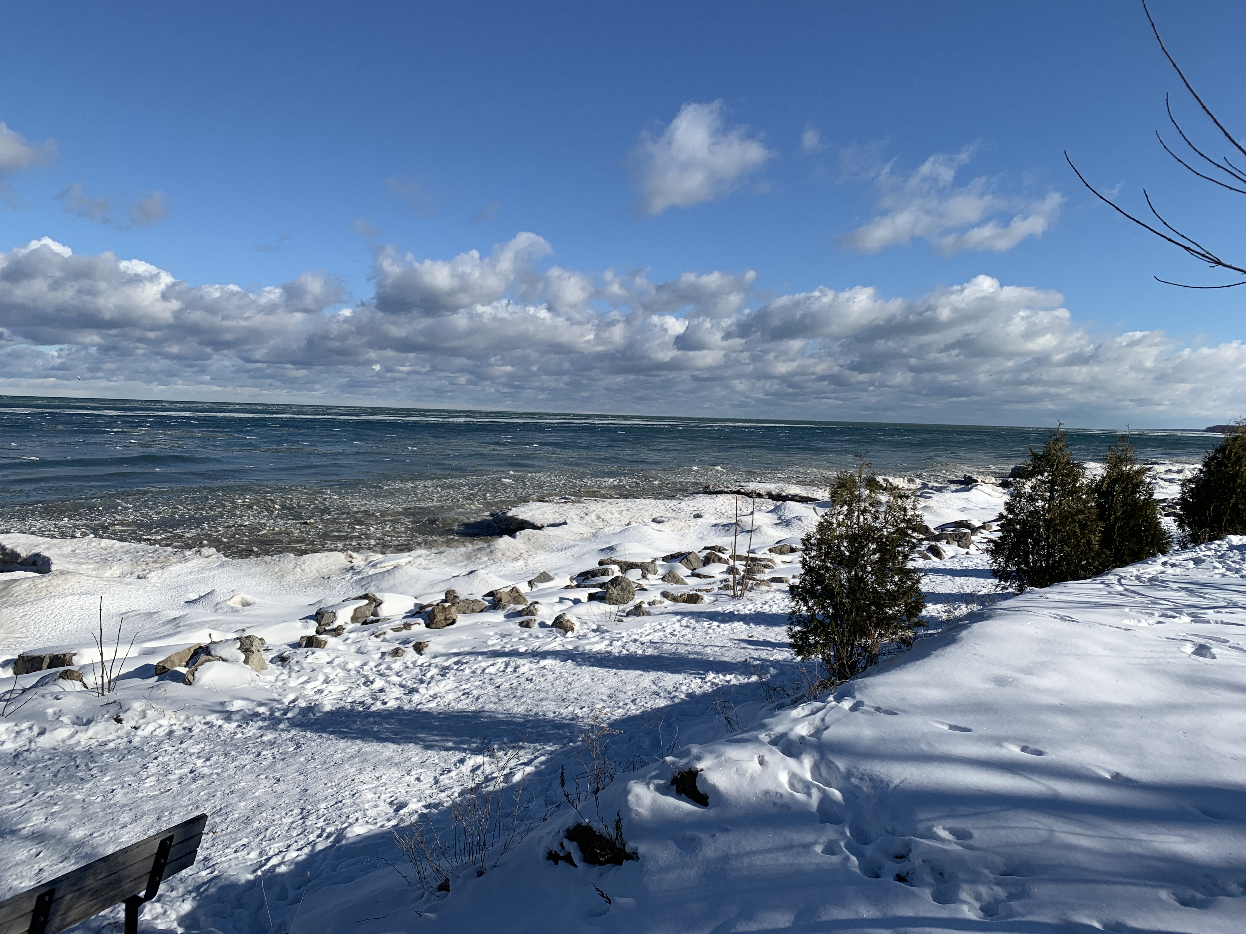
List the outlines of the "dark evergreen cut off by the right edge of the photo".
<svg viewBox="0 0 1246 934">
<path fill-rule="evenodd" d="M 1237 422 L 1181 483 L 1177 526 L 1186 545 L 1246 534 L 1246 422 Z"/>
</svg>

